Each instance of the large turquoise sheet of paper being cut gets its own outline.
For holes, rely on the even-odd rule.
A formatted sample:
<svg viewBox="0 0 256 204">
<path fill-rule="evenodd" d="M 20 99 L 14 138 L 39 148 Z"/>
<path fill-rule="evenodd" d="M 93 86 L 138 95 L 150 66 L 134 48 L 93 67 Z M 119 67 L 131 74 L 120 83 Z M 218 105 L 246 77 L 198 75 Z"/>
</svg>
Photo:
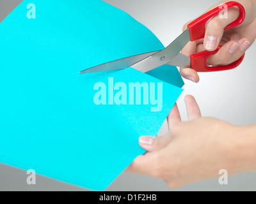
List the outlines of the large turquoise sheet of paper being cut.
<svg viewBox="0 0 256 204">
<path fill-rule="evenodd" d="M 28 3 L 35 19 L 27 18 Z M 138 137 L 157 134 L 182 92 L 169 65 L 148 75 L 132 68 L 79 75 L 163 48 L 146 27 L 99 0 L 23 1 L 0 24 L 0 39 L 0 162 L 63 182 L 106 189 L 145 152 Z M 93 85 L 108 85 L 109 77 L 127 86 L 164 80 L 162 110 L 95 105 Z"/>
</svg>

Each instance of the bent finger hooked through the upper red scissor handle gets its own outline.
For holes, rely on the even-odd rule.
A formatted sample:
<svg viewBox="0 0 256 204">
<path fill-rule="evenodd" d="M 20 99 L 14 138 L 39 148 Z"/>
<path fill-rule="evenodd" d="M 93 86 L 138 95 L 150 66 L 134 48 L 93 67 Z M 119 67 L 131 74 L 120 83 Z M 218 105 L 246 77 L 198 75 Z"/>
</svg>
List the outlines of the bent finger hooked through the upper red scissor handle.
<svg viewBox="0 0 256 204">
<path fill-rule="evenodd" d="M 220 18 L 216 15 L 207 23 L 205 27 L 204 47 L 208 51 L 216 50 L 220 44 L 224 33 L 224 28 L 234 22 L 239 17 L 239 10 L 237 8 L 228 9 L 228 17 Z"/>
</svg>

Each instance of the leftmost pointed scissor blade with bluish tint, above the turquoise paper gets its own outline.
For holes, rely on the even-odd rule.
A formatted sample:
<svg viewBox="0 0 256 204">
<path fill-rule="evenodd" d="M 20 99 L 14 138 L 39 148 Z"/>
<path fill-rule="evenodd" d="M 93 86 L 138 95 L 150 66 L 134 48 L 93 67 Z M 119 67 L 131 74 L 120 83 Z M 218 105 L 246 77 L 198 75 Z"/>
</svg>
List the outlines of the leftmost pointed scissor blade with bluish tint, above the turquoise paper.
<svg viewBox="0 0 256 204">
<path fill-rule="evenodd" d="M 118 69 L 125 69 L 129 68 L 133 64 L 136 64 L 137 62 L 140 62 L 143 59 L 146 59 L 147 57 L 150 57 L 151 55 L 156 54 L 159 51 L 154 52 L 147 52 L 140 55 L 134 55 L 131 57 L 125 57 L 122 59 L 117 59 L 115 61 L 106 62 L 104 64 L 100 64 L 98 66 L 93 66 L 92 68 L 84 69 L 83 71 L 80 71 L 79 73 L 93 73 L 98 71 L 109 71 L 109 70 L 118 70 Z"/>
</svg>

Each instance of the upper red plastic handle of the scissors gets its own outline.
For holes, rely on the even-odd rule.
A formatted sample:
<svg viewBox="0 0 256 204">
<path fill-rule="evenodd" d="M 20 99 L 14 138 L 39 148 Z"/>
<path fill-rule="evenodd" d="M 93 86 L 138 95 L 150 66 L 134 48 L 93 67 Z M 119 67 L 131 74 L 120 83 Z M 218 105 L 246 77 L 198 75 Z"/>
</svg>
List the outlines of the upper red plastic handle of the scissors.
<svg viewBox="0 0 256 204">
<path fill-rule="evenodd" d="M 237 3 L 236 1 L 229 1 L 225 4 L 227 5 L 227 9 L 230 8 L 230 7 L 233 7 L 233 6 L 237 6 L 239 8 L 239 11 L 240 11 L 240 15 L 237 18 L 237 20 L 235 20 L 231 24 L 227 25 L 227 27 L 225 27 L 224 30 L 227 30 L 227 29 L 230 29 L 232 27 L 236 27 L 237 25 L 240 25 L 244 21 L 245 10 L 244 10 L 243 5 Z M 223 8 L 220 8 L 220 7 L 214 8 L 213 10 L 208 11 L 207 13 L 202 15 L 201 17 L 199 17 L 196 20 L 194 20 L 193 22 L 191 22 L 188 25 L 190 40 L 195 41 L 195 40 L 200 40 L 200 39 L 204 38 L 205 24 L 212 17 L 214 17 L 215 15 L 220 13 L 220 11 L 223 11 Z"/>
</svg>

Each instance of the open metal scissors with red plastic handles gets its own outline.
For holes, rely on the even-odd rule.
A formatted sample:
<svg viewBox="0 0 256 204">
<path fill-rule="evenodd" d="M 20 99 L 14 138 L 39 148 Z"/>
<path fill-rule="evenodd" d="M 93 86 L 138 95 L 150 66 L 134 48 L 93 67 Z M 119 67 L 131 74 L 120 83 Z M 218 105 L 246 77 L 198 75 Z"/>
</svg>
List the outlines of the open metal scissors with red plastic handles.
<svg viewBox="0 0 256 204">
<path fill-rule="evenodd" d="M 240 25 L 245 18 L 245 10 L 241 4 L 237 3 L 236 1 L 229 1 L 228 3 L 226 3 L 226 5 L 227 6 L 225 9 L 232 6 L 237 6 L 239 8 L 240 15 L 237 20 L 227 25 L 224 30 Z M 207 65 L 208 57 L 216 54 L 218 50 L 220 50 L 221 46 L 219 46 L 216 50 L 212 52 L 205 50 L 196 54 L 192 54 L 189 57 L 180 53 L 182 48 L 184 48 L 189 41 L 195 41 L 204 38 L 205 24 L 212 17 L 220 13 L 220 11 L 223 11 L 223 8 L 221 8 L 221 6 L 214 8 L 211 11 L 208 11 L 199 18 L 196 18 L 196 20 L 188 25 L 188 29 L 186 29 L 186 31 L 180 34 L 178 38 L 176 38 L 170 45 L 168 45 L 168 47 L 164 48 L 163 50 L 148 52 L 140 55 L 117 59 L 111 62 L 106 62 L 104 64 L 85 69 L 79 73 L 82 74 L 98 71 L 118 70 L 129 67 L 138 69 L 139 71 L 145 73 L 159 66 L 162 66 L 163 64 L 171 64 L 173 66 L 179 66 L 182 68 L 190 67 L 198 72 L 223 71 L 236 68 L 243 61 L 244 55 L 237 61 L 232 62 L 232 64 L 227 64 L 223 66 Z"/>
</svg>

